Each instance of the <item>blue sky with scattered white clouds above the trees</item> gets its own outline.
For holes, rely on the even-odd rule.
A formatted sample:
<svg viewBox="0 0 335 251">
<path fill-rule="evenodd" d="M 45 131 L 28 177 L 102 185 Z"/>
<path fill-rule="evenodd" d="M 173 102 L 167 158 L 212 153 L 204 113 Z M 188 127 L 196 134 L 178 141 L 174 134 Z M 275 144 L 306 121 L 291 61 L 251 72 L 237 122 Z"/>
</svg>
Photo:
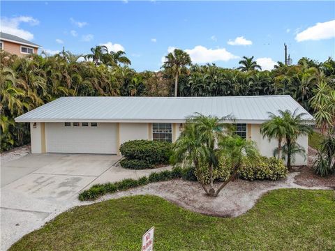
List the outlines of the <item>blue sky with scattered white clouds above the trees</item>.
<svg viewBox="0 0 335 251">
<path fill-rule="evenodd" d="M 6 33 L 49 54 L 123 50 L 137 71 L 159 70 L 174 48 L 193 63 L 236 68 L 255 56 L 264 70 L 307 56 L 335 58 L 335 1 L 1 1 Z M 41 50 L 40 50 L 41 51 Z"/>
</svg>

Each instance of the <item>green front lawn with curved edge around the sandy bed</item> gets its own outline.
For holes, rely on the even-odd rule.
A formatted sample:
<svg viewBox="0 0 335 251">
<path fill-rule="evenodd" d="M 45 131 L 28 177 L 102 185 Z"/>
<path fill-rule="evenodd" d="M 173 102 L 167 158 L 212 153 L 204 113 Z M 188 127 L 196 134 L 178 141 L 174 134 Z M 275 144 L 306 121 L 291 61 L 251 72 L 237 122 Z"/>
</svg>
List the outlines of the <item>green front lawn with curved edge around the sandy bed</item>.
<svg viewBox="0 0 335 251">
<path fill-rule="evenodd" d="M 335 195 L 274 190 L 237 218 L 193 213 L 149 195 L 112 199 L 62 213 L 10 250 L 140 250 L 152 226 L 156 251 L 335 250 Z"/>
</svg>

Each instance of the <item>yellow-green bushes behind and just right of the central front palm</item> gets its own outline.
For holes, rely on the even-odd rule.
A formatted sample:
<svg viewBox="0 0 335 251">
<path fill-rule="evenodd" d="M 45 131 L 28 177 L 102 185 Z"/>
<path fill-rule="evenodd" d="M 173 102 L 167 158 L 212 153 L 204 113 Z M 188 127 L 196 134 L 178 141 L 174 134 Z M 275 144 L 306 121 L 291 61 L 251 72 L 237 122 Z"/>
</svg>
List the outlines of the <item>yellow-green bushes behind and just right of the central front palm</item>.
<svg viewBox="0 0 335 251">
<path fill-rule="evenodd" d="M 214 181 L 226 181 L 230 177 L 231 172 L 231 162 L 225 158 L 221 158 L 219 160 L 218 167 L 213 170 Z M 287 175 L 288 168 L 285 167 L 283 161 L 274 157 L 267 158 L 265 156 L 260 156 L 257 160 L 254 161 L 248 160 L 248 158 L 244 158 L 238 172 L 239 178 L 243 178 L 248 181 L 277 181 L 280 178 L 285 178 Z M 198 172 L 195 171 L 195 176 L 198 178 L 198 180 L 200 177 L 202 177 L 202 181 L 205 184 L 209 184 L 209 170 L 206 165 L 202 165 Z"/>
</svg>

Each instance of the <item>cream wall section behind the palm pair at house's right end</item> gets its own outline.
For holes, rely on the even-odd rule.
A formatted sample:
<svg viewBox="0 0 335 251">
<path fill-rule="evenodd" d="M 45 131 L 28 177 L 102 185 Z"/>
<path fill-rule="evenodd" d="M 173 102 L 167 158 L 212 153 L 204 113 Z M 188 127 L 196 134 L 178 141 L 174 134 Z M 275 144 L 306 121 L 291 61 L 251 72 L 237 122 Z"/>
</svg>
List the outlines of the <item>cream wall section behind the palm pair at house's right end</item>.
<svg viewBox="0 0 335 251">
<path fill-rule="evenodd" d="M 260 133 L 260 124 L 251 124 L 247 128 L 250 128 L 250 132 L 247 132 L 248 138 L 253 140 L 260 151 L 260 154 L 271 157 L 273 156 L 274 149 L 278 146 L 278 141 L 275 139 L 269 139 L 263 136 Z M 283 142 L 284 144 L 285 142 Z M 304 147 L 306 153 L 308 151 L 308 137 L 301 136 L 297 139 L 297 143 Z M 307 158 L 305 159 L 304 156 L 295 155 L 295 163 L 293 165 L 307 165 Z"/>
</svg>

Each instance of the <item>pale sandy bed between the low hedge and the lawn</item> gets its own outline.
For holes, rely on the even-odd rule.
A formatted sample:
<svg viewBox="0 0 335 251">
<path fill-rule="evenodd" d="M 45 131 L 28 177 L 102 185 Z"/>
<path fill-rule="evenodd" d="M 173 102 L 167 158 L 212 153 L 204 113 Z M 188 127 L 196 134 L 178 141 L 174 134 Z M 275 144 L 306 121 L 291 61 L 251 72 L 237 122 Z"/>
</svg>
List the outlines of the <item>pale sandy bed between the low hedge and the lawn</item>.
<svg viewBox="0 0 335 251">
<path fill-rule="evenodd" d="M 204 190 L 198 182 L 177 179 L 150 183 L 140 188 L 105 195 L 98 201 L 131 195 L 157 195 L 188 210 L 205 215 L 236 217 L 251 209 L 256 201 L 269 190 L 278 188 L 306 189 L 306 187 L 295 183 L 295 176 L 298 174 L 298 172 L 291 172 L 288 178 L 281 181 L 244 181 L 237 179 L 229 183 L 216 198 L 204 195 Z M 313 187 L 312 189 L 327 188 Z"/>
</svg>

